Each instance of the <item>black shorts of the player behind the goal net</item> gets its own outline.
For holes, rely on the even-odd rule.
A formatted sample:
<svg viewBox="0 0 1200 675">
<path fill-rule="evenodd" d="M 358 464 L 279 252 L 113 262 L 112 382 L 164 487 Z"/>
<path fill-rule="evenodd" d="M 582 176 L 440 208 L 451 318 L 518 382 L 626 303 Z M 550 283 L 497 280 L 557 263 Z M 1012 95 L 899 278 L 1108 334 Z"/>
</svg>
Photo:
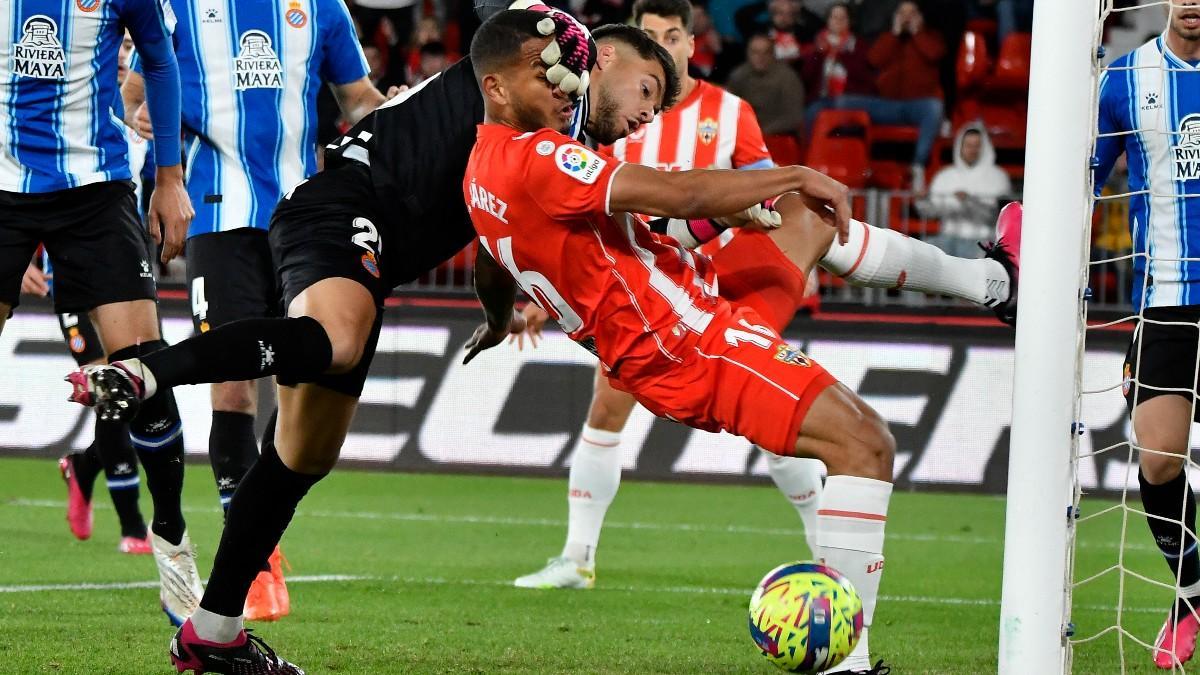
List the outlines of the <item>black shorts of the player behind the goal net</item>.
<svg viewBox="0 0 1200 675">
<path fill-rule="evenodd" d="M 1136 404 L 1168 395 L 1193 401 L 1198 384 L 1200 305 L 1146 307 L 1142 317 L 1145 321 L 1134 329 L 1126 353 L 1122 387 L 1126 405 L 1133 411 Z M 1200 422 L 1198 406 L 1193 406 L 1192 414 Z"/>
</svg>

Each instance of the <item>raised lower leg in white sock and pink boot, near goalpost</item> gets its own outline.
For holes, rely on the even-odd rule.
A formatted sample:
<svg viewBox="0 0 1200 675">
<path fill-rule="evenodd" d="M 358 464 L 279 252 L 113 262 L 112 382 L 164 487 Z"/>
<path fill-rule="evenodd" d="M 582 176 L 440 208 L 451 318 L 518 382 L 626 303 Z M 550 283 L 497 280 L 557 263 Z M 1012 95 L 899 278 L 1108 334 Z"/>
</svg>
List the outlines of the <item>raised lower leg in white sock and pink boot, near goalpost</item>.
<svg viewBox="0 0 1200 675">
<path fill-rule="evenodd" d="M 997 238 L 982 258 L 956 258 L 896 231 L 851 220 L 850 240 L 829 245 L 821 267 L 854 286 L 904 288 L 952 295 L 992 309 L 1006 322 L 1016 321 L 1021 208 L 1001 210 Z"/>
</svg>

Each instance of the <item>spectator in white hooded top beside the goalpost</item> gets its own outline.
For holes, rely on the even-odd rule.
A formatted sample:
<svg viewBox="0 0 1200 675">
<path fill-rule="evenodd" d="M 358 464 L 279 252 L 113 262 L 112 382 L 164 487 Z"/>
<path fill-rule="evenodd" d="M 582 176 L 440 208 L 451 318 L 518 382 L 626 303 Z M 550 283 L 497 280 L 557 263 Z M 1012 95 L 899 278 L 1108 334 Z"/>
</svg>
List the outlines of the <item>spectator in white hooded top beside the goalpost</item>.
<svg viewBox="0 0 1200 675">
<path fill-rule="evenodd" d="M 952 256 L 978 257 L 977 243 L 992 235 L 1000 199 L 1013 192 L 983 125 L 966 125 L 954 139 L 954 165 L 943 168 L 919 202 L 924 217 L 941 219 L 929 243 Z"/>
</svg>

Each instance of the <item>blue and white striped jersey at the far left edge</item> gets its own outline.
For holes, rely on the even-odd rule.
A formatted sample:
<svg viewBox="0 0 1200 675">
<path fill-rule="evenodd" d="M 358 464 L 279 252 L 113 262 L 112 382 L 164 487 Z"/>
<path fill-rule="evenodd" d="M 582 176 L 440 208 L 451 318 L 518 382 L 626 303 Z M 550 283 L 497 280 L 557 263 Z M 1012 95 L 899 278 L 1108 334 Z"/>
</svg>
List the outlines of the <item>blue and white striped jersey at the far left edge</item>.
<svg viewBox="0 0 1200 675">
<path fill-rule="evenodd" d="M 180 162 L 168 0 L 0 2 L 0 190 L 50 192 L 130 178 L 114 107 L 125 30 L 146 59 L 158 166 Z"/>
</svg>

